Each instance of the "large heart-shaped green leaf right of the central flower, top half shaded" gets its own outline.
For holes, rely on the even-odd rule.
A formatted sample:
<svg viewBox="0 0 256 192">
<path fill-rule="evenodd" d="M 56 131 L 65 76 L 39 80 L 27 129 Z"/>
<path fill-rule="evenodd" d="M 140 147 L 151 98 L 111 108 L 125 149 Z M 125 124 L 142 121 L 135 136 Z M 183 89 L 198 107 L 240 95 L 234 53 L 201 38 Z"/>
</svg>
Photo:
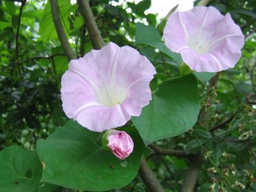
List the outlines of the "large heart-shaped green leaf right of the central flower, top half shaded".
<svg viewBox="0 0 256 192">
<path fill-rule="evenodd" d="M 197 120 L 199 102 L 193 75 L 162 83 L 152 101 L 132 122 L 145 144 L 188 131 Z"/>
</svg>

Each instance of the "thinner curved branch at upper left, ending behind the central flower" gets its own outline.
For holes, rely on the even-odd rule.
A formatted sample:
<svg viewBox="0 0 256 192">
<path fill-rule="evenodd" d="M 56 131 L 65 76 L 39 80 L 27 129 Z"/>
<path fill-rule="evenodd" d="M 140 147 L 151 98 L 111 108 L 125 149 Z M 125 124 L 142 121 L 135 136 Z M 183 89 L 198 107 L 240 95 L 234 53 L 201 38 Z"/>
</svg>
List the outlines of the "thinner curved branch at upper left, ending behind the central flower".
<svg viewBox="0 0 256 192">
<path fill-rule="evenodd" d="M 54 26 L 56 28 L 56 31 L 58 33 L 58 37 L 60 40 L 60 43 L 64 49 L 64 52 L 68 58 L 68 60 L 74 60 L 76 59 L 76 54 L 73 51 L 73 49 L 68 44 L 67 36 L 65 35 L 65 31 L 63 29 L 61 20 L 60 20 L 60 10 L 58 7 L 58 1 L 57 0 L 50 0 L 51 3 L 51 10 L 52 10 L 52 19 L 54 22 Z"/>
</svg>

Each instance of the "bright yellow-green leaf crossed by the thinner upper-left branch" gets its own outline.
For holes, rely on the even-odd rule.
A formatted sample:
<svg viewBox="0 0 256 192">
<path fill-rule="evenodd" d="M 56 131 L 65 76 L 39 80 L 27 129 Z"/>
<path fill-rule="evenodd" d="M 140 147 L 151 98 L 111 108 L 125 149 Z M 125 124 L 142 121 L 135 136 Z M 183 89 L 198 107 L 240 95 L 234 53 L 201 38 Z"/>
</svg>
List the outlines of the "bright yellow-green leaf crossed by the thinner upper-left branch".
<svg viewBox="0 0 256 192">
<path fill-rule="evenodd" d="M 71 5 L 70 1 L 59 0 L 58 1 L 59 9 L 60 9 L 60 18 L 63 23 L 63 28 L 66 32 L 69 31 L 69 22 L 68 17 L 70 16 L 70 12 L 74 12 L 77 8 L 76 5 Z M 50 1 L 47 2 L 44 8 L 44 14 L 42 20 L 40 21 L 40 35 L 44 42 L 48 42 L 51 39 L 58 38 L 56 33 L 56 29 L 54 27 L 54 23 L 52 20 L 52 12 L 51 12 L 51 4 Z M 66 33 L 67 34 L 67 33 Z"/>
</svg>

